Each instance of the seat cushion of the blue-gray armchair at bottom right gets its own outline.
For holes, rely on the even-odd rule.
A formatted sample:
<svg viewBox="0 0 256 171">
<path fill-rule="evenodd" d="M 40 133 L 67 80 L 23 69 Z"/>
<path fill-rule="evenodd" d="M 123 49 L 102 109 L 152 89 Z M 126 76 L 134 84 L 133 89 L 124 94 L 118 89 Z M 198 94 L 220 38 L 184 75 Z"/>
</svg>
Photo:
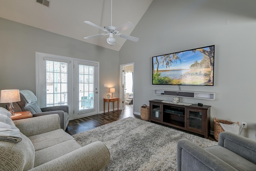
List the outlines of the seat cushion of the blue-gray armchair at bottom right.
<svg viewBox="0 0 256 171">
<path fill-rule="evenodd" d="M 220 145 L 206 147 L 204 149 L 212 153 L 216 157 L 220 158 L 221 160 L 225 161 L 237 170 L 250 171 L 255 170 L 256 168 L 256 165 L 254 163 L 246 160 L 244 157 L 241 157 L 240 155 Z"/>
</svg>

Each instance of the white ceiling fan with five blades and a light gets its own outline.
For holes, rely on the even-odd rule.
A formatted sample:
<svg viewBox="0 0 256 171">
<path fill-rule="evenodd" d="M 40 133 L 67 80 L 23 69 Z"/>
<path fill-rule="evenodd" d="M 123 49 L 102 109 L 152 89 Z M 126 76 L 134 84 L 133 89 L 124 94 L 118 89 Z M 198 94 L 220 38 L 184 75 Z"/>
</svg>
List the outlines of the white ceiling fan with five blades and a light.
<svg viewBox="0 0 256 171">
<path fill-rule="evenodd" d="M 119 36 L 121 38 L 128 39 L 128 40 L 132 40 L 134 42 L 138 42 L 138 40 L 139 40 L 139 38 L 119 33 L 123 30 L 134 27 L 134 25 L 131 22 L 126 22 L 118 27 L 112 26 L 112 0 L 111 0 L 111 26 L 105 26 L 103 28 L 101 26 L 98 26 L 97 24 L 90 22 L 90 21 L 84 21 L 84 23 L 94 26 L 96 28 L 99 28 L 100 30 L 103 30 L 104 32 L 106 32 L 105 34 L 96 34 L 94 36 L 84 37 L 84 39 L 96 38 L 99 36 L 106 36 L 109 34 L 109 37 L 107 38 L 107 42 L 110 45 L 114 45 L 116 43 L 116 38 L 114 37 L 114 35 Z"/>
</svg>

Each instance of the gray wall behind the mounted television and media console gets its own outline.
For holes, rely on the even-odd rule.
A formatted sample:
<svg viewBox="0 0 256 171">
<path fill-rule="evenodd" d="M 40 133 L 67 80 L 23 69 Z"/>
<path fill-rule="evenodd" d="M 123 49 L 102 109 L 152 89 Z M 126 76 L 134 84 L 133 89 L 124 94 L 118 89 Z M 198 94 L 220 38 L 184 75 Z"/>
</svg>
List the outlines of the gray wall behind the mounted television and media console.
<svg viewBox="0 0 256 171">
<path fill-rule="evenodd" d="M 241 135 L 256 139 L 256 15 L 240 11 L 255 7 L 256 2 L 246 2 L 250 4 L 239 0 L 154 0 L 132 32 L 140 40 L 126 41 L 119 52 L 120 64 L 135 63 L 134 111 L 140 113 L 140 106 L 149 105 L 152 99 L 172 100 L 154 95 L 153 89 L 178 90 L 177 85 L 152 85 L 152 56 L 215 45 L 214 86 L 180 87 L 183 91 L 213 91 L 216 99 L 181 101 L 211 105 L 212 129 L 213 117 L 247 122 Z"/>
</svg>

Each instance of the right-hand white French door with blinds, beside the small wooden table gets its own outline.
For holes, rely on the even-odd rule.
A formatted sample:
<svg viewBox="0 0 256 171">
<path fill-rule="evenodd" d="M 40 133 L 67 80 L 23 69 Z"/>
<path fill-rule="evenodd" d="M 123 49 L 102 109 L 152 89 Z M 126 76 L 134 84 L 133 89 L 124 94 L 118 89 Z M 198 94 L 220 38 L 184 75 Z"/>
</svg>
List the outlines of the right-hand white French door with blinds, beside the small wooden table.
<svg viewBox="0 0 256 171">
<path fill-rule="evenodd" d="M 98 64 L 74 60 L 74 118 L 98 113 Z"/>
</svg>

